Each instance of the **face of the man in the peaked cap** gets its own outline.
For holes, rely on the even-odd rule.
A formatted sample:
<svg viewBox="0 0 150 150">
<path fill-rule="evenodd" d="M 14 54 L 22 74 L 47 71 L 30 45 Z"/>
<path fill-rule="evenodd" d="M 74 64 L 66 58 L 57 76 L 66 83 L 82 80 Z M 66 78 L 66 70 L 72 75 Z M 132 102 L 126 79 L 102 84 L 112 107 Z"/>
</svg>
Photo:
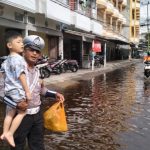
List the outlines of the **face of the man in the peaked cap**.
<svg viewBox="0 0 150 150">
<path fill-rule="evenodd" d="M 29 64 L 35 64 L 40 56 L 41 56 L 40 51 L 34 50 L 29 47 L 26 47 L 24 50 L 24 58 Z"/>
</svg>

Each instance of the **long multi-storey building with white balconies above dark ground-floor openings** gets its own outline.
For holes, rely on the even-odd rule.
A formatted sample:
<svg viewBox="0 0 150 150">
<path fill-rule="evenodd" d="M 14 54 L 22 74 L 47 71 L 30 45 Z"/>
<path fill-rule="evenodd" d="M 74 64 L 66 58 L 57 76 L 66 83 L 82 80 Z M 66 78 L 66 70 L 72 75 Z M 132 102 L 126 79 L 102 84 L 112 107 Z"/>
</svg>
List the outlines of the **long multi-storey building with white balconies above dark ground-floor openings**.
<svg viewBox="0 0 150 150">
<path fill-rule="evenodd" d="M 5 32 L 15 29 L 24 36 L 42 36 L 46 43 L 43 54 L 50 59 L 57 59 L 61 55 L 62 58 L 76 59 L 80 67 L 85 67 L 94 40 L 100 43 L 99 54 L 106 53 L 107 61 L 122 59 L 122 51 L 130 50 L 128 3 L 130 5 L 131 2 L 0 0 L 0 42 L 3 43 L 0 45 L 0 55 L 8 54 L 4 42 Z M 134 31 L 135 37 L 137 26 Z"/>
</svg>

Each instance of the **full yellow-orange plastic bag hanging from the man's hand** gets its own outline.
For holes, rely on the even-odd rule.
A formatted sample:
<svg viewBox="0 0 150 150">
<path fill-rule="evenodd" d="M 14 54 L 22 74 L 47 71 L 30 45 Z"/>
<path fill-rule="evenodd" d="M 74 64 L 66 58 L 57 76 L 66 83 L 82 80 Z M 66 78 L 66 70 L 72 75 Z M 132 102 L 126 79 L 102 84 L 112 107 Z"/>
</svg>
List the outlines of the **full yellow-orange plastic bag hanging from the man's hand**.
<svg viewBox="0 0 150 150">
<path fill-rule="evenodd" d="M 63 103 L 56 102 L 44 112 L 43 116 L 46 129 L 58 132 L 68 130 Z"/>
</svg>

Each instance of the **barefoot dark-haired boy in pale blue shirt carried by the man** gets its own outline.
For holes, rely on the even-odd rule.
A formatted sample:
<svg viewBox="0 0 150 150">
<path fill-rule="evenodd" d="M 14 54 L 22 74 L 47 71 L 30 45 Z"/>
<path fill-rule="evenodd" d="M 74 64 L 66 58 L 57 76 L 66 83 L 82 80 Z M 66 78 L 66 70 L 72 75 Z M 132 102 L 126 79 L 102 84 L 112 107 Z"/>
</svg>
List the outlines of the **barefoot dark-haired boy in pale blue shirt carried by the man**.
<svg viewBox="0 0 150 150">
<path fill-rule="evenodd" d="M 6 44 L 10 54 L 2 64 L 5 80 L 5 96 L 16 103 L 24 100 L 29 101 L 31 99 L 31 93 L 28 87 L 27 64 L 21 56 L 24 50 L 21 34 L 16 31 L 8 31 L 6 33 Z M 0 138 L 8 141 L 13 147 L 15 147 L 13 134 L 19 127 L 25 114 L 26 111 L 20 111 L 8 105 L 6 106 L 3 134 Z"/>
</svg>

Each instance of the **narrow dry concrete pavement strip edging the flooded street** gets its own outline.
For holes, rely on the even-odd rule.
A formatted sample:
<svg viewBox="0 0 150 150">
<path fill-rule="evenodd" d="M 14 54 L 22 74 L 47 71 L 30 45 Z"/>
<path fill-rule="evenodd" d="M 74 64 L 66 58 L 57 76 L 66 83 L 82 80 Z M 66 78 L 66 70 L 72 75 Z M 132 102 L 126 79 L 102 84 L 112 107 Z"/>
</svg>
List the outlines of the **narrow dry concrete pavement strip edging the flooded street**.
<svg viewBox="0 0 150 150">
<path fill-rule="evenodd" d="M 67 73 L 62 73 L 60 75 L 51 75 L 49 78 L 44 79 L 45 85 L 50 85 L 50 84 L 56 84 L 62 83 L 62 82 L 69 82 L 69 80 L 74 79 L 82 79 L 83 75 L 89 75 L 89 76 L 96 76 L 99 74 L 103 74 L 105 72 L 113 71 L 115 69 L 118 69 L 120 67 L 125 67 L 131 64 L 135 63 L 142 63 L 142 59 L 132 59 L 132 60 L 124 60 L 124 61 L 113 61 L 107 63 L 106 67 L 102 68 L 95 68 L 94 70 L 91 69 L 79 69 L 77 72 L 72 73 L 72 72 L 67 72 Z"/>
</svg>

